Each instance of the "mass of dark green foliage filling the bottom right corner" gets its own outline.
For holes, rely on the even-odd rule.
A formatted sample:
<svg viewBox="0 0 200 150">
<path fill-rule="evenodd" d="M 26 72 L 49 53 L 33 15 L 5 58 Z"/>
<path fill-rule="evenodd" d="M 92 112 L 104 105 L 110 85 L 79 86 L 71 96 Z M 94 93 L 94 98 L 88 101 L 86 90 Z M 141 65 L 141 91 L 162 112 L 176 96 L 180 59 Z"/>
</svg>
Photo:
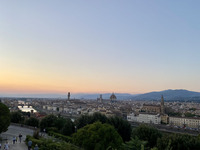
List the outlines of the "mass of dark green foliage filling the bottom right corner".
<svg viewBox="0 0 200 150">
<path fill-rule="evenodd" d="M 124 150 L 198 150 L 200 136 L 162 133 L 148 125 L 133 130 L 132 139 L 123 144 Z"/>
</svg>

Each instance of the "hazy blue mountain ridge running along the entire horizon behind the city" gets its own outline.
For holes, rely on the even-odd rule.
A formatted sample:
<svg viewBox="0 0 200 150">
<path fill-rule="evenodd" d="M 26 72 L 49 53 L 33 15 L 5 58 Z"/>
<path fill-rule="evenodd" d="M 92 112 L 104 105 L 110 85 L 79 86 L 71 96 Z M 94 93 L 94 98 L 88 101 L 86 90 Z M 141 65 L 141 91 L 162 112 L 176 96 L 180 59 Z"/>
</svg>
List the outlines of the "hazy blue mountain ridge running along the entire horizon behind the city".
<svg viewBox="0 0 200 150">
<path fill-rule="evenodd" d="M 112 93 L 102 94 L 103 99 L 110 99 Z M 165 100 L 191 100 L 200 101 L 200 92 L 188 91 L 184 89 L 164 90 L 150 92 L 144 94 L 114 93 L 117 100 L 160 100 L 161 95 Z M 18 98 L 53 98 L 67 99 L 66 94 L 0 94 L 0 97 L 18 97 Z M 100 93 L 71 93 L 71 99 L 91 99 L 96 100 L 100 97 Z"/>
</svg>

